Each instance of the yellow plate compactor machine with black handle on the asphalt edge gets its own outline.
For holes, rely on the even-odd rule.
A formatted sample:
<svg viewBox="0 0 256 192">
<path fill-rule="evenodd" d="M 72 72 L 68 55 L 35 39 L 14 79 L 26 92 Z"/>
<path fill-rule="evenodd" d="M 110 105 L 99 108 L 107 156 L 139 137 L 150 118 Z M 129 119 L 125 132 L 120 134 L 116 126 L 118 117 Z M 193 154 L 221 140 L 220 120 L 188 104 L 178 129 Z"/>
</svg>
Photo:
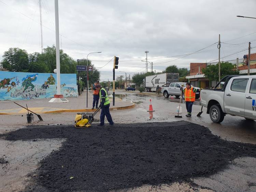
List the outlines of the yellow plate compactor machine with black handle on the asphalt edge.
<svg viewBox="0 0 256 192">
<path fill-rule="evenodd" d="M 99 107 L 94 113 L 77 113 L 75 116 L 75 127 L 89 128 L 94 120 L 94 116 L 100 109 L 101 107 Z"/>
</svg>

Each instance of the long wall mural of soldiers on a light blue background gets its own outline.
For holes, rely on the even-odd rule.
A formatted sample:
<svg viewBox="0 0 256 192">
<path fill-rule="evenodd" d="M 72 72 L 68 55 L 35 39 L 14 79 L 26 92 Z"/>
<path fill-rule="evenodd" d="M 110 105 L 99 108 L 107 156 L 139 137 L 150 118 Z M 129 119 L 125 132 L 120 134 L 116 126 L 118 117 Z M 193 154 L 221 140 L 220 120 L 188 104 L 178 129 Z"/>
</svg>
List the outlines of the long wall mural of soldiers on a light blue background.
<svg viewBox="0 0 256 192">
<path fill-rule="evenodd" d="M 77 97 L 76 74 L 60 74 L 60 92 Z M 57 74 L 0 71 L 0 101 L 53 98 Z"/>
</svg>

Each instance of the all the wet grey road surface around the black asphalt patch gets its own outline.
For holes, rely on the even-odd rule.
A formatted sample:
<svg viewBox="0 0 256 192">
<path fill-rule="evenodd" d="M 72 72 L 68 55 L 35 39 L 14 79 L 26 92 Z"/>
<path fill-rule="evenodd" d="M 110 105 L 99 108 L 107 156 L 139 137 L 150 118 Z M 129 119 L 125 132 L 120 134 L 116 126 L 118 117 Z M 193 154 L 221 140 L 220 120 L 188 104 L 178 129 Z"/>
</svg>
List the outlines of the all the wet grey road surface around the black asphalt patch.
<svg viewBox="0 0 256 192">
<path fill-rule="evenodd" d="M 204 127 L 209 128 L 212 134 L 217 135 L 218 137 L 234 142 L 242 142 L 242 143 L 251 143 L 256 144 L 256 122 L 255 121 L 247 121 L 241 117 L 233 117 L 227 115 L 224 118 L 224 121 L 221 124 L 213 123 L 209 117 L 209 114 L 206 114 L 206 108 L 203 108 L 204 113 L 201 117 L 197 117 L 196 115 L 201 110 L 201 106 L 199 105 L 199 101 L 196 101 L 193 105 L 192 117 L 187 118 L 186 115 L 186 107 L 184 100 L 182 100 L 182 118 L 175 118 L 176 115 L 176 107 L 179 105 L 179 99 L 174 97 L 164 98 L 162 95 L 156 94 L 140 94 L 138 91 L 119 91 L 116 90 L 116 99 L 122 99 L 124 101 L 131 101 L 136 103 L 136 107 L 126 110 L 111 110 L 111 115 L 116 124 L 118 123 L 147 123 L 147 122 L 170 122 L 170 125 L 178 125 L 178 122 L 185 120 L 188 122 L 193 122 L 199 125 L 203 125 Z M 154 112 L 147 112 L 149 108 L 150 101 L 152 100 Z M 111 103 L 112 105 L 113 103 Z M 74 124 L 74 117 L 76 113 L 57 113 L 57 114 L 43 114 L 42 117 L 44 121 L 35 122 L 35 125 L 57 125 L 57 124 Z M 98 124 L 99 122 L 98 113 L 95 117 L 95 122 L 92 125 L 92 129 L 94 124 Z M 0 131 L 1 133 L 6 133 L 11 130 L 16 130 L 22 128 L 27 123 L 25 117 L 21 115 L 8 115 L 2 116 L 0 119 Z M 106 120 L 106 119 L 105 119 Z M 12 122 L 10 124 L 10 122 Z M 176 123 L 176 124 L 175 124 Z M 189 124 L 189 123 L 188 123 Z M 106 127 L 107 128 L 107 127 Z M 200 134 L 200 133 L 199 133 Z M 198 135 L 199 135 L 198 134 Z M 181 137 L 179 137 L 181 138 Z M 37 140 L 37 139 L 35 139 Z M 57 139 L 58 140 L 58 139 Z M 46 139 L 40 141 L 27 141 L 27 142 L 10 142 L 9 141 L 1 141 L 1 145 L 3 147 L 3 151 L 0 151 L 0 157 L 6 154 L 9 159 L 13 159 L 11 161 L 10 170 L 8 172 L 6 169 L 2 169 L 4 175 L 2 177 L 2 183 L 6 183 L 4 189 L 8 189 L 5 191 L 15 191 L 20 189 L 22 191 L 22 186 L 24 183 L 24 178 L 27 174 L 31 174 L 32 170 L 35 170 L 35 165 L 37 161 L 47 156 L 53 148 L 53 144 L 57 147 L 57 144 L 60 145 L 60 141 L 55 141 L 54 139 L 50 139 L 49 141 Z M 39 143 L 41 142 L 41 145 Z M 57 142 L 56 144 L 54 142 Z M 24 147 L 25 145 L 25 147 Z M 49 145 L 49 149 L 46 151 L 45 146 Z M 214 145 L 213 145 L 214 146 Z M 12 147 L 12 150 L 10 150 Z M 33 148 L 32 148 L 33 147 Z M 41 149 L 41 148 L 42 149 Z M 29 148 L 28 153 L 27 150 Z M 6 152 L 5 152 L 6 151 Z M 39 152 L 40 153 L 39 153 Z M 11 153 L 10 153 L 11 152 Z M 18 155 L 19 154 L 19 155 Z M 39 157 L 36 158 L 37 161 L 31 159 L 31 154 L 34 156 L 35 154 Z M 4 157 L 6 157 L 4 156 Z M 13 156 L 13 157 L 12 157 Z M 17 158 L 19 157 L 19 158 Z M 199 156 L 196 158 L 200 159 Z M 32 161 L 33 160 L 33 161 Z M 210 188 L 214 191 L 256 191 L 256 159 L 252 157 L 239 157 L 234 161 L 230 162 L 230 164 L 226 167 L 225 170 L 218 172 L 217 174 L 211 175 L 209 177 L 199 177 L 195 178 L 194 183 L 199 186 L 203 186 L 204 189 Z M 30 162 L 32 161 L 32 162 Z M 34 163 L 34 167 L 31 167 L 31 163 Z M 8 166 L 8 167 L 9 167 Z M 17 169 L 17 167 L 19 167 Z M 13 169 L 11 169 L 13 168 Z M 1 175 L 1 172 L 0 172 Z M 32 176 L 33 177 L 33 176 Z M 32 178 L 31 177 L 31 178 Z M 1 177 L 0 177 L 1 179 Z M 17 182 L 17 180 L 19 182 Z M 0 182 L 0 183 L 1 183 Z M 10 190 L 9 183 L 12 184 L 12 190 Z M 1 185 L 0 185 L 1 186 Z M 160 190 L 156 188 L 156 191 L 186 191 L 182 187 L 182 184 L 178 184 L 179 190 L 175 189 L 175 186 L 165 186 L 160 187 Z M 162 188 L 162 190 L 161 190 Z M 151 187 L 149 187 L 152 190 Z M 190 186 L 191 189 L 191 186 Z M 0 190 L 1 191 L 1 190 Z M 129 190 L 128 190 L 129 191 Z M 132 189 L 131 191 L 140 191 L 139 189 Z M 143 188 L 141 191 L 149 191 L 146 188 Z M 207 190 L 208 191 L 208 190 Z M 211 191 L 211 190 L 209 190 Z"/>
</svg>

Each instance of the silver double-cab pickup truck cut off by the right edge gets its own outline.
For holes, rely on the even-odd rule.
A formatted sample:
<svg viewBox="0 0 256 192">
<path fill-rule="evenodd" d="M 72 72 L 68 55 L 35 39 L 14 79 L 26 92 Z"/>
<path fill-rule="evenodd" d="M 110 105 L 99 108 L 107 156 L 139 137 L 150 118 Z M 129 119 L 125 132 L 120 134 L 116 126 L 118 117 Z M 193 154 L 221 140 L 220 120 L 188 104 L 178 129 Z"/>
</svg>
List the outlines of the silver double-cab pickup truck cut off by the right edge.
<svg viewBox="0 0 256 192">
<path fill-rule="evenodd" d="M 200 98 L 215 123 L 222 122 L 226 114 L 256 120 L 256 75 L 225 76 L 214 89 L 202 89 Z"/>
</svg>

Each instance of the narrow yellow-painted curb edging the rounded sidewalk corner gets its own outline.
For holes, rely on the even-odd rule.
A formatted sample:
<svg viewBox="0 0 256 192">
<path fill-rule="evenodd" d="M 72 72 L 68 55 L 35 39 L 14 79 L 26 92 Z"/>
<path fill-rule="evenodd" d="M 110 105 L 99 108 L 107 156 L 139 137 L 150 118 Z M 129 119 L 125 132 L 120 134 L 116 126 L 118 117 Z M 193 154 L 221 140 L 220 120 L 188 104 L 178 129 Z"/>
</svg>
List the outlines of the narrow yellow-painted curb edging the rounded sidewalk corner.
<svg viewBox="0 0 256 192">
<path fill-rule="evenodd" d="M 110 110 L 120 110 L 120 109 L 130 109 L 135 107 L 135 104 L 133 103 L 132 105 L 126 106 L 126 107 L 111 107 L 109 108 Z M 54 111 L 48 111 L 48 112 L 42 112 L 38 114 L 48 114 L 48 113 L 65 113 L 65 112 L 93 112 L 96 111 L 97 109 L 63 109 L 63 110 L 54 110 Z M 22 115 L 22 113 L 17 114 L 17 113 L 0 113 L 0 115 Z"/>
</svg>

